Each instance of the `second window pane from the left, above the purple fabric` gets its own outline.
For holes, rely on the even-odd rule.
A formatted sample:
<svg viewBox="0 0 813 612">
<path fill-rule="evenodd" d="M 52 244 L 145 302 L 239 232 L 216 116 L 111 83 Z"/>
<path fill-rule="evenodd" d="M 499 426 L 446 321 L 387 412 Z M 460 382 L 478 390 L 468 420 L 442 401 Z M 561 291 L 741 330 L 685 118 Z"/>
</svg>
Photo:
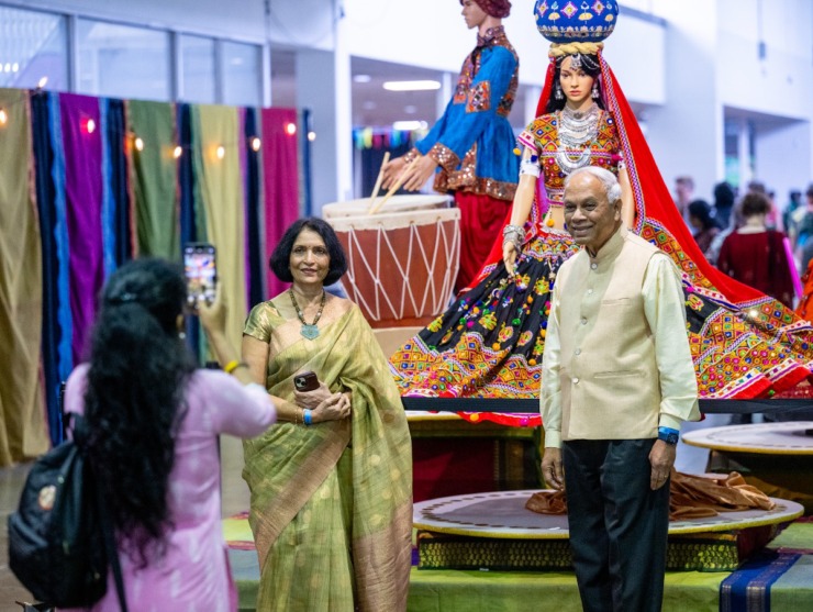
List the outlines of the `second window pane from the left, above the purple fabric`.
<svg viewBox="0 0 813 612">
<path fill-rule="evenodd" d="M 77 47 L 79 92 L 171 99 L 168 32 L 80 19 Z"/>
</svg>

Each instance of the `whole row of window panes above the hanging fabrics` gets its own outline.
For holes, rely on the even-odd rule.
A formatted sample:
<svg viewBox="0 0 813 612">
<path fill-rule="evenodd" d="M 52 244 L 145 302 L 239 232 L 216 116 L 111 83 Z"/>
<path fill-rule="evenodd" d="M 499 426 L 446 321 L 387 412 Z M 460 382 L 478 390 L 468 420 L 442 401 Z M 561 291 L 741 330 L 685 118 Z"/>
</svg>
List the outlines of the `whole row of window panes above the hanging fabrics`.
<svg viewBox="0 0 813 612">
<path fill-rule="evenodd" d="M 260 44 L 0 5 L 0 87 L 260 105 L 264 78 Z"/>
</svg>

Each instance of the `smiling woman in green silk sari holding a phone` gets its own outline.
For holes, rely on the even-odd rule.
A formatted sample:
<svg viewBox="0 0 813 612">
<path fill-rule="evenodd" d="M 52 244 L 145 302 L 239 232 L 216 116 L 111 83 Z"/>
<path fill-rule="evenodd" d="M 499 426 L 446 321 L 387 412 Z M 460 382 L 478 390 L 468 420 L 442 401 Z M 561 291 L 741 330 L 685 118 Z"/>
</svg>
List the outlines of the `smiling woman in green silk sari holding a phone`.
<svg viewBox="0 0 813 612">
<path fill-rule="evenodd" d="M 271 269 L 291 289 L 255 307 L 243 335 L 278 418 L 244 443 L 257 610 L 405 610 L 412 447 L 387 359 L 358 307 L 324 290 L 346 270 L 327 223 L 293 223 Z M 305 371 L 318 389 L 294 389 Z"/>
</svg>

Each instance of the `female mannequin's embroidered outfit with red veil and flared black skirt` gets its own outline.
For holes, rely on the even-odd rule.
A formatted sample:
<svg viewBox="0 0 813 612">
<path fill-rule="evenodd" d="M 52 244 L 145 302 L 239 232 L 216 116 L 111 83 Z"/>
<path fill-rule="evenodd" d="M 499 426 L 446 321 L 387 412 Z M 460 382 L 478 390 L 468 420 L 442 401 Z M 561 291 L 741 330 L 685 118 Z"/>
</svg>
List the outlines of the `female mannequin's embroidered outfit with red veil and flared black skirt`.
<svg viewBox="0 0 813 612">
<path fill-rule="evenodd" d="M 635 203 L 631 229 L 678 265 L 686 293 L 687 333 L 700 398 L 753 399 L 772 396 L 811 377 L 813 327 L 779 301 L 722 275 L 694 244 L 612 70 L 601 60 L 601 97 L 608 112 L 590 143 L 590 164 L 617 173 L 625 164 Z M 552 63 L 541 101 L 553 82 Z M 538 110 L 537 110 L 538 112 Z M 535 143 L 543 175 L 526 224 L 515 282 L 509 281 L 498 241 L 476 282 L 449 310 L 390 357 L 402 396 L 524 398 L 539 396 L 547 300 L 559 264 L 577 251 L 565 234 L 541 224 L 546 202 L 556 201 L 565 171 L 554 155 L 556 116 L 543 115 L 520 141 Z M 542 265 L 545 262 L 545 265 Z M 463 414 L 502 424 L 535 426 L 538 415 Z"/>
</svg>

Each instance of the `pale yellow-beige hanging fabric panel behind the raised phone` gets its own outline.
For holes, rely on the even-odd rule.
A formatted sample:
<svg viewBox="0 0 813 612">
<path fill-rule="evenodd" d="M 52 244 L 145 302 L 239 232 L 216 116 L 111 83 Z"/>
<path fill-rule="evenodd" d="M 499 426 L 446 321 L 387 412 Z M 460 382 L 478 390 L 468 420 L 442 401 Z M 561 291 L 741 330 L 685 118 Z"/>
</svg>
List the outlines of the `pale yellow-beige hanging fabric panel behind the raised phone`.
<svg viewBox="0 0 813 612">
<path fill-rule="evenodd" d="M 218 249 L 219 287 L 229 304 L 226 330 L 234 346 L 240 346 L 247 314 L 238 124 L 235 108 L 192 105 L 192 130 L 199 137 L 193 147 L 197 191 L 208 241 Z"/>
</svg>

